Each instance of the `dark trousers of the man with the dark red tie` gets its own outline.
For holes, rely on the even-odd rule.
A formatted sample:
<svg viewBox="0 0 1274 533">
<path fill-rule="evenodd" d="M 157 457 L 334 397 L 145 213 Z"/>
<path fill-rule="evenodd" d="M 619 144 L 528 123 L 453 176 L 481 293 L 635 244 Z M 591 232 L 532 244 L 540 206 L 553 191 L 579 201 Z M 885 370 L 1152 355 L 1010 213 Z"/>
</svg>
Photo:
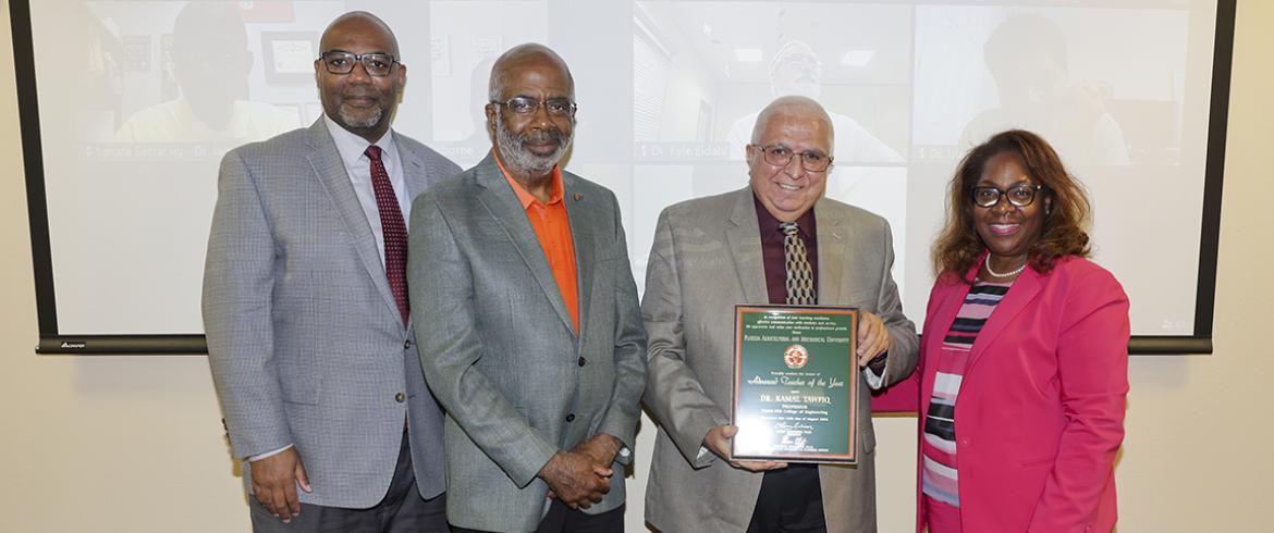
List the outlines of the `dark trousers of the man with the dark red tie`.
<svg viewBox="0 0 1274 533">
<path fill-rule="evenodd" d="M 252 530 L 257 533 L 447 532 L 447 495 L 442 494 L 432 500 L 420 497 L 415 486 L 415 472 L 412 469 L 412 449 L 408 445 L 406 431 L 403 433 L 403 446 L 399 449 L 399 460 L 394 467 L 390 488 L 385 499 L 371 509 L 301 504 L 301 514 L 284 524 L 265 510 L 256 497 L 250 500 L 252 500 Z"/>
</svg>

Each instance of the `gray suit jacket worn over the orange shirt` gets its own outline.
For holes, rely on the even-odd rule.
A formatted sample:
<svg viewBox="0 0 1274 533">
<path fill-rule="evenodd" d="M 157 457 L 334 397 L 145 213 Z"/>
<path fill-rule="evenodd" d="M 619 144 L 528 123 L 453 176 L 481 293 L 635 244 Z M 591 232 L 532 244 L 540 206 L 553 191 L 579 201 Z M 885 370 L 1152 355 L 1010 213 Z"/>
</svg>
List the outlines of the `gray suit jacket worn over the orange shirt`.
<svg viewBox="0 0 1274 533">
<path fill-rule="evenodd" d="M 614 195 L 562 173 L 578 270 L 576 335 L 526 211 L 490 154 L 412 206 L 408 285 L 420 365 L 446 408 L 447 518 L 535 529 L 536 477 L 605 433 L 633 445 L 646 335 Z M 624 501 L 624 468 L 587 513 Z"/>
</svg>

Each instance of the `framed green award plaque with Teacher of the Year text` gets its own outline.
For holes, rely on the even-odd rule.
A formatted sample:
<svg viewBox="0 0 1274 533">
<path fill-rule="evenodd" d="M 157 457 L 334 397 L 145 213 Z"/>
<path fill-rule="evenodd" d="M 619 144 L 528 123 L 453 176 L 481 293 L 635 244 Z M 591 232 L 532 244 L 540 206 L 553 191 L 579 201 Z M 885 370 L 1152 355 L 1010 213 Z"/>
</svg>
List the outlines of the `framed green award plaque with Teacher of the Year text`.
<svg viewBox="0 0 1274 533">
<path fill-rule="evenodd" d="M 857 463 L 859 312 L 735 305 L 735 459 Z"/>
</svg>

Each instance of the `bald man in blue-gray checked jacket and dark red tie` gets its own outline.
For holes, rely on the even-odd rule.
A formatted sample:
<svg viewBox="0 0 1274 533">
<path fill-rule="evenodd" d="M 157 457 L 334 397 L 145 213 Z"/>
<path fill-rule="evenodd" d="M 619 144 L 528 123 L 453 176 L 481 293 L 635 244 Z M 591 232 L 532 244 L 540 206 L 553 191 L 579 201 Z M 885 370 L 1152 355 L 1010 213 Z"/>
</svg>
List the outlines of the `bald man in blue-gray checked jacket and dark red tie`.
<svg viewBox="0 0 1274 533">
<path fill-rule="evenodd" d="M 446 530 L 403 214 L 460 169 L 390 130 L 406 66 L 382 20 L 341 15 L 320 46 L 324 117 L 222 160 L 204 327 L 225 429 L 255 530 Z"/>
</svg>

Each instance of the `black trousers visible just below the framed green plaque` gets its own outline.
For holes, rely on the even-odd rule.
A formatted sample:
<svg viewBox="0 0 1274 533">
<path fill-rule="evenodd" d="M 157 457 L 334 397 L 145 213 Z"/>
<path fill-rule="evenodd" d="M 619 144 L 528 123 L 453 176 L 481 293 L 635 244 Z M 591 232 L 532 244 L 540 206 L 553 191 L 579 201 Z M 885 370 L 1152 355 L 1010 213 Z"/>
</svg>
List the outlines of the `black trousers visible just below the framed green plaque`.
<svg viewBox="0 0 1274 533">
<path fill-rule="evenodd" d="M 766 472 L 748 533 L 826 532 L 823 487 L 817 464 L 790 464 Z"/>
</svg>

